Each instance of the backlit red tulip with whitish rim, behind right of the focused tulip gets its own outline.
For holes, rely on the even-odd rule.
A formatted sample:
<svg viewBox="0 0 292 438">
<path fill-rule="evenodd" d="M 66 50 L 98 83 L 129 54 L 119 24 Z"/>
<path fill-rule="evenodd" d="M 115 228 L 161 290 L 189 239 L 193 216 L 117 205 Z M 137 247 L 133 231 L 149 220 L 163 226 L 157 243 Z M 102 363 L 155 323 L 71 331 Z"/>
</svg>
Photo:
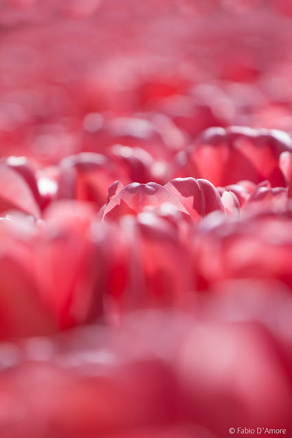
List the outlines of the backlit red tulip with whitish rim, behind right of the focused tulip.
<svg viewBox="0 0 292 438">
<path fill-rule="evenodd" d="M 291 138 L 276 130 L 231 127 L 212 128 L 186 153 L 186 164 L 176 174 L 208 179 L 214 185 L 230 185 L 248 179 L 269 180 L 272 187 L 286 187 L 279 157 L 291 151 Z"/>
</svg>

